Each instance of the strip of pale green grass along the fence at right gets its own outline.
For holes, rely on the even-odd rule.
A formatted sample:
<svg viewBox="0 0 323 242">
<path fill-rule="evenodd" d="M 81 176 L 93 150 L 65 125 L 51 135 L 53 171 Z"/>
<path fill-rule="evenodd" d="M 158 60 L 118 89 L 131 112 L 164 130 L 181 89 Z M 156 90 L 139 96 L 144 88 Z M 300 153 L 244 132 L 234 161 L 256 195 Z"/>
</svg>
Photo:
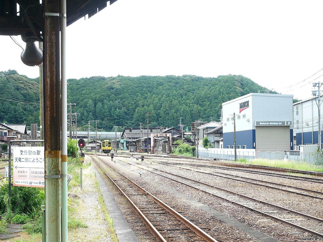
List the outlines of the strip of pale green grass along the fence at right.
<svg viewBox="0 0 323 242">
<path fill-rule="evenodd" d="M 323 171 L 323 167 L 314 166 L 306 162 L 299 162 L 293 160 L 267 160 L 267 159 L 254 159 L 254 160 L 236 160 L 236 163 L 272 166 L 277 168 L 290 168 L 297 170 L 309 170 L 309 171 Z"/>
</svg>

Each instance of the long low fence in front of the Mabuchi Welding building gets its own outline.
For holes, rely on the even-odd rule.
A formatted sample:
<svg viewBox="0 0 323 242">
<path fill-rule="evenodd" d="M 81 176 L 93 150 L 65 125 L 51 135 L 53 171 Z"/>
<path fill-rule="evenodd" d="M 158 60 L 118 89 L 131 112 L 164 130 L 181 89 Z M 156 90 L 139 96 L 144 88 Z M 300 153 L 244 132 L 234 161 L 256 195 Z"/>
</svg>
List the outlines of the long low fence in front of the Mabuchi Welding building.
<svg viewBox="0 0 323 242">
<path fill-rule="evenodd" d="M 234 160 L 234 150 L 199 149 L 199 157 L 204 159 Z M 299 163 L 307 163 L 315 166 L 323 165 L 323 154 L 300 153 L 299 151 L 268 152 L 268 151 L 241 151 L 237 150 L 237 159 L 252 161 L 255 159 L 265 160 L 291 160 Z"/>
</svg>

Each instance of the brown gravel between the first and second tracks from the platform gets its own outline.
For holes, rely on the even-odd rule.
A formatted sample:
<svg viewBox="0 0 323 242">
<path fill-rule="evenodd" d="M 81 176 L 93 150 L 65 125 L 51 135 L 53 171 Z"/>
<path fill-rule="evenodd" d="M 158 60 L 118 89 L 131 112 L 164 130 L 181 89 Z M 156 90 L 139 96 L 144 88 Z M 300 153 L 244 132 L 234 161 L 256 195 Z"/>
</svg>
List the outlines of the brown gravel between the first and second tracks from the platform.
<svg viewBox="0 0 323 242">
<path fill-rule="evenodd" d="M 116 164 L 116 166 L 118 166 L 118 164 Z M 226 228 L 225 231 L 235 231 L 236 229 L 233 227 L 228 228 L 227 224 L 218 221 L 214 217 L 210 216 L 210 214 L 207 214 L 196 207 L 188 208 L 187 201 L 182 200 L 182 198 L 174 196 L 172 193 L 165 191 L 164 189 L 161 189 L 159 186 L 153 186 L 151 182 L 147 182 L 146 179 L 154 181 L 157 184 L 158 183 L 165 184 L 168 187 L 171 187 L 173 190 L 183 192 L 187 194 L 189 197 L 194 198 L 195 200 L 202 202 L 203 204 L 208 205 L 211 208 L 217 209 L 223 212 L 224 214 L 227 214 L 233 218 L 236 218 L 239 221 L 243 221 L 243 223 L 247 224 L 248 226 L 256 228 L 257 230 L 262 231 L 265 234 L 270 235 L 279 241 L 298 241 L 300 236 L 303 236 L 303 237 L 307 236 L 305 233 L 301 233 L 293 228 L 289 228 L 284 225 L 277 224 L 275 221 L 268 220 L 266 217 L 250 212 L 245 208 L 240 208 L 230 203 L 225 203 L 221 199 L 216 199 L 214 197 L 201 194 L 197 192 L 196 189 L 188 188 L 187 186 L 173 182 L 170 179 L 162 178 L 160 176 L 154 175 L 144 170 L 143 170 L 143 176 L 145 177 L 145 179 L 142 179 L 138 177 L 138 171 L 141 169 L 137 169 L 134 167 L 134 170 L 136 170 L 137 173 L 133 173 L 133 172 L 130 173 L 129 169 L 122 166 L 118 166 L 118 169 L 121 169 L 124 172 L 127 172 L 127 175 L 131 176 L 136 182 L 140 183 L 141 185 L 144 185 L 145 188 L 147 188 L 153 194 L 157 195 L 159 198 L 162 198 L 162 199 L 167 198 L 167 201 L 172 201 L 172 203 L 176 201 L 176 204 L 178 207 L 182 206 L 182 208 L 185 210 L 185 213 L 187 212 L 190 213 L 189 216 L 199 218 L 199 222 L 204 223 L 207 218 L 209 221 L 209 224 L 212 223 L 216 231 L 219 231 L 219 228 Z M 176 207 L 176 205 L 174 206 Z M 295 233 L 298 233 L 298 234 L 295 234 Z M 237 241 L 237 239 L 240 239 L 240 241 L 252 241 L 249 235 L 244 234 L 244 232 L 239 233 L 241 238 L 236 238 L 235 236 L 237 233 L 234 233 L 234 235 L 232 235 L 232 232 L 231 233 L 221 232 L 220 234 L 221 234 L 221 238 L 219 240 L 223 240 L 223 241 L 228 239 L 232 241 Z M 228 236 L 225 236 L 226 234 Z M 234 239 L 232 238 L 232 236 L 234 236 Z M 215 237 L 215 238 L 218 239 L 218 237 Z M 320 241 L 320 240 L 316 240 L 316 241 Z"/>
</svg>

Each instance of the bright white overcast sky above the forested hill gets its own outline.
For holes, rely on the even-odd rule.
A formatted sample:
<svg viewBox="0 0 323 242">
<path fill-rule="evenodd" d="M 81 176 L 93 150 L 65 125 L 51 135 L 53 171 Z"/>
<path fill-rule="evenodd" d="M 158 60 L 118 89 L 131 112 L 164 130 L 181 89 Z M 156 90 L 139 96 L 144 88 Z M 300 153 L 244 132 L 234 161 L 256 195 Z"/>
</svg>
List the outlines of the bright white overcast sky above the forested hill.
<svg viewBox="0 0 323 242">
<path fill-rule="evenodd" d="M 314 0 L 118 0 L 68 26 L 67 77 L 235 74 L 306 99 L 323 82 L 322 9 Z M 0 43 L 0 71 L 38 76 L 9 36 Z"/>
</svg>

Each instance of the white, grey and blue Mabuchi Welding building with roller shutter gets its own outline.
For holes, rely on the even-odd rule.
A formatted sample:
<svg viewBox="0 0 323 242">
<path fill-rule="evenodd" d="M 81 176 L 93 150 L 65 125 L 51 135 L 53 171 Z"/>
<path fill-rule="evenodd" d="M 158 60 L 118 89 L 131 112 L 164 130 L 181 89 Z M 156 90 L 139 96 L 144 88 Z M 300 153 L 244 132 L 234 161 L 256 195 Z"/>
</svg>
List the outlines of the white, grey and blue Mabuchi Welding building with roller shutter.
<svg viewBox="0 0 323 242">
<path fill-rule="evenodd" d="M 293 95 L 249 93 L 222 103 L 223 148 L 293 150 Z"/>
</svg>

